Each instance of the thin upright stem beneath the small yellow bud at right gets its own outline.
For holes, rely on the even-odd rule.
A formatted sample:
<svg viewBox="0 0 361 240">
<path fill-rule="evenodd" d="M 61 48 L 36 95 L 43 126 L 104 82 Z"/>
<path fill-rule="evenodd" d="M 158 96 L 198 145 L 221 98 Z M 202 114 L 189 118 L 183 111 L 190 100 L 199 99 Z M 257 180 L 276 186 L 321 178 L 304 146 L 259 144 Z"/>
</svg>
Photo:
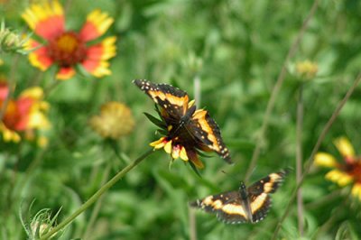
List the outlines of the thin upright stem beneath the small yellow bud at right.
<svg viewBox="0 0 361 240">
<path fill-rule="evenodd" d="M 302 125 L 303 125 L 303 84 L 299 88 L 299 99 L 297 101 L 297 122 L 296 122 L 296 182 L 300 183 L 302 175 Z M 299 232 L 303 235 L 303 201 L 301 188 L 297 191 L 297 217 Z"/>
</svg>

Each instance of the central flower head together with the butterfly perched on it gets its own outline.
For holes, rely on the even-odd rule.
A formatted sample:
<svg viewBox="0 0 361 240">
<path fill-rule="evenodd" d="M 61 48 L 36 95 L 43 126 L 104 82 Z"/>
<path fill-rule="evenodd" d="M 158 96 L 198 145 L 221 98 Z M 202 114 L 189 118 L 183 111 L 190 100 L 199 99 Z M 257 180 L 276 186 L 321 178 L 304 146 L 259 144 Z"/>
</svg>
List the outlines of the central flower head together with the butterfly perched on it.
<svg viewBox="0 0 361 240">
<path fill-rule="evenodd" d="M 180 158 L 190 166 L 203 168 L 199 151 L 217 152 L 226 162 L 231 163 L 228 149 L 223 143 L 217 123 L 208 111 L 197 109 L 188 94 L 168 84 L 155 84 L 146 80 L 134 80 L 134 84 L 153 99 L 162 121 L 147 115 L 161 127 L 164 136 L 151 143 L 154 149 L 163 148 L 172 159 Z"/>
</svg>

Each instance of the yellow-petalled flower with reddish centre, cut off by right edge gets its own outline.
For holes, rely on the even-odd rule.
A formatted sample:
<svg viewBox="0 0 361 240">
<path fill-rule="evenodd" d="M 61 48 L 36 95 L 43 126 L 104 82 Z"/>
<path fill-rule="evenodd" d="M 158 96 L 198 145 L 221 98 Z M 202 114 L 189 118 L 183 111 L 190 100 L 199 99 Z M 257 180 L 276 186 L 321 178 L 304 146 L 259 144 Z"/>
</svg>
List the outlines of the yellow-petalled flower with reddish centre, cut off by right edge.
<svg viewBox="0 0 361 240">
<path fill-rule="evenodd" d="M 315 164 L 334 168 L 326 174 L 326 179 L 338 183 L 340 187 L 353 184 L 351 193 L 361 201 L 361 157 L 355 155 L 355 150 L 346 137 L 334 141 L 343 162 L 337 162 L 329 153 L 318 152 Z"/>
</svg>

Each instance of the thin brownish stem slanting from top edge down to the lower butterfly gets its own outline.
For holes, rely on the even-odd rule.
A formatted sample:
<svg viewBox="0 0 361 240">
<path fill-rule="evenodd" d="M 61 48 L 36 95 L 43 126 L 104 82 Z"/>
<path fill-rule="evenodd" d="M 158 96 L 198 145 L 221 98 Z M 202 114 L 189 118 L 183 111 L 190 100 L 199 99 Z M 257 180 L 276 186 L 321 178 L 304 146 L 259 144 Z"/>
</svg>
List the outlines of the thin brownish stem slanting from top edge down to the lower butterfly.
<svg viewBox="0 0 361 240">
<path fill-rule="evenodd" d="M 273 107 L 274 107 L 276 97 L 279 95 L 278 93 L 280 92 L 280 89 L 282 87 L 282 83 L 283 83 L 284 78 L 286 76 L 287 65 L 288 65 L 289 61 L 294 57 L 294 55 L 295 55 L 295 53 L 296 53 L 296 51 L 297 51 L 297 49 L 298 49 L 298 47 L 300 45 L 303 34 L 306 31 L 306 29 L 309 27 L 310 19 L 315 14 L 315 12 L 316 12 L 316 10 L 318 8 L 318 5 L 319 5 L 319 0 L 315 0 L 315 2 L 313 3 L 313 5 L 312 5 L 312 7 L 310 9 L 310 14 L 306 17 L 305 21 L 303 22 L 299 34 L 297 35 L 296 39 L 292 43 L 290 51 L 287 53 L 287 57 L 286 57 L 286 60 L 284 60 L 284 62 L 283 62 L 280 75 L 278 76 L 277 81 L 274 84 L 270 100 L 268 101 L 268 104 L 267 104 L 267 107 L 266 107 L 266 110 L 265 110 L 265 113 L 264 113 L 264 122 L 262 123 L 261 131 L 256 137 L 255 150 L 253 152 L 251 162 L 248 165 L 248 169 L 245 172 L 245 182 L 246 183 L 248 182 L 249 178 L 251 177 L 252 171 L 255 169 L 255 164 L 257 163 L 257 160 L 258 160 L 259 155 L 261 153 L 261 146 L 262 146 L 262 143 L 263 143 L 262 140 L 264 139 L 264 134 L 265 134 L 265 132 L 267 130 L 267 127 L 268 127 L 269 118 L 270 118 L 270 115 L 271 115 L 271 113 L 273 111 Z"/>
</svg>

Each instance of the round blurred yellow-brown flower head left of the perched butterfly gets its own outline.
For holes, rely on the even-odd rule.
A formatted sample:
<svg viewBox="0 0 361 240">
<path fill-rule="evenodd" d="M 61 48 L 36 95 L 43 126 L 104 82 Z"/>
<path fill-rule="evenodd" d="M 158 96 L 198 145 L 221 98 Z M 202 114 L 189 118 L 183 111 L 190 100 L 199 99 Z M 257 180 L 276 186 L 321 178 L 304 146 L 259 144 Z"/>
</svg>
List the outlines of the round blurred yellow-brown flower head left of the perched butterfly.
<svg viewBox="0 0 361 240">
<path fill-rule="evenodd" d="M 118 139 L 134 129 L 134 118 L 129 107 L 118 102 L 101 106 L 100 115 L 90 118 L 91 128 L 104 138 Z"/>
</svg>

